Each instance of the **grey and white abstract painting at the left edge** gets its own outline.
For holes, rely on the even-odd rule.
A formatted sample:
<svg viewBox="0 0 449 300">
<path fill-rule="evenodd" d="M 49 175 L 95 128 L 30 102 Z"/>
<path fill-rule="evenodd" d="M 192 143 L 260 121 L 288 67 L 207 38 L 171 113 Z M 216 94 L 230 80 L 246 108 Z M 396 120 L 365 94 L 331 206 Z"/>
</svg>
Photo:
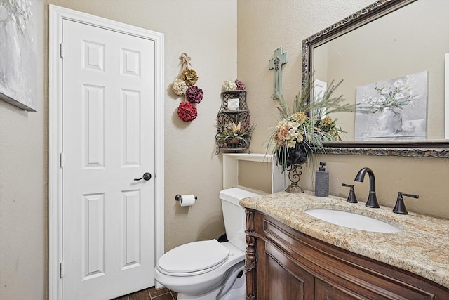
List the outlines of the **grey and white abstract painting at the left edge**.
<svg viewBox="0 0 449 300">
<path fill-rule="evenodd" d="M 35 1 L 0 1 L 0 99 L 36 111 Z"/>
</svg>

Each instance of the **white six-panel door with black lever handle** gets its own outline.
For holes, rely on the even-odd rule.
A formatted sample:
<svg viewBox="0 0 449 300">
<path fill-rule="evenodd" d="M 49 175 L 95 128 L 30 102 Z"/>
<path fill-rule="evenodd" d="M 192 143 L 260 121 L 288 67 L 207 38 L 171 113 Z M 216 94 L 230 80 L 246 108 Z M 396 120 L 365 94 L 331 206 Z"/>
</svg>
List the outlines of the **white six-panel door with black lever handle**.
<svg viewBox="0 0 449 300">
<path fill-rule="evenodd" d="M 112 299 L 154 285 L 154 41 L 62 27 L 62 295 Z"/>
</svg>

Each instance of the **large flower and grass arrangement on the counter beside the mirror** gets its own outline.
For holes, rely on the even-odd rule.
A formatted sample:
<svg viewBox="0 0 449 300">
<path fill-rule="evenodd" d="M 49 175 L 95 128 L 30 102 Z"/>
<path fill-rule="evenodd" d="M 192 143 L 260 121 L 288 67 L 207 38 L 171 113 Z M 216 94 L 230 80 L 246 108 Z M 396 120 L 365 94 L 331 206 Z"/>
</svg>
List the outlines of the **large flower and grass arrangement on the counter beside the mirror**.
<svg viewBox="0 0 449 300">
<path fill-rule="evenodd" d="M 332 96 L 341 83 L 342 81 L 334 85 L 332 81 L 326 93 L 310 101 L 314 84 L 309 76 L 295 97 L 293 111 L 290 111 L 282 95 L 274 95 L 274 100 L 279 101 L 280 119 L 268 138 L 267 153 L 271 152 L 276 157 L 276 163 L 282 167 L 282 171 L 295 164 L 303 164 L 309 159 L 315 164 L 314 154 L 324 152 L 324 142 L 341 141 L 340 134 L 345 131 L 330 114 L 364 112 L 356 110 L 356 105 L 342 104 L 342 96 Z"/>
</svg>

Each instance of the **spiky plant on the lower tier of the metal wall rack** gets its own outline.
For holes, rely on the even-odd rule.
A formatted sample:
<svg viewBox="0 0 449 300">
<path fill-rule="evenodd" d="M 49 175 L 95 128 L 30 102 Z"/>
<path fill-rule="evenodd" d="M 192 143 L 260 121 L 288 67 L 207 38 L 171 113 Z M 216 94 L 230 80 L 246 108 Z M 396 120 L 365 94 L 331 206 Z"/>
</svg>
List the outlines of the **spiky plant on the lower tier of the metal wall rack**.
<svg viewBox="0 0 449 300">
<path fill-rule="evenodd" d="M 255 125 L 250 124 L 248 116 L 236 116 L 234 122 L 227 122 L 218 128 L 217 142 L 226 143 L 228 148 L 244 148 L 249 145 L 254 129 Z"/>
</svg>

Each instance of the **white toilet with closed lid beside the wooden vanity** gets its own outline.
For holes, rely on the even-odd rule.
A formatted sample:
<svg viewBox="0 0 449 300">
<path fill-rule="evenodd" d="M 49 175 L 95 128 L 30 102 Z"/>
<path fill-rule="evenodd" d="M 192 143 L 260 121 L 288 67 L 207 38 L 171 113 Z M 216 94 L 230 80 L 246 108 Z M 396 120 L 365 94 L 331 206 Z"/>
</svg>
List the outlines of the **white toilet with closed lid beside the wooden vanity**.
<svg viewBox="0 0 449 300">
<path fill-rule="evenodd" d="M 163 254 L 155 268 L 161 285 L 177 292 L 177 299 L 246 299 L 246 218 L 239 201 L 255 193 L 229 188 L 220 192 L 229 242 L 205 240 L 182 244 Z"/>
</svg>

